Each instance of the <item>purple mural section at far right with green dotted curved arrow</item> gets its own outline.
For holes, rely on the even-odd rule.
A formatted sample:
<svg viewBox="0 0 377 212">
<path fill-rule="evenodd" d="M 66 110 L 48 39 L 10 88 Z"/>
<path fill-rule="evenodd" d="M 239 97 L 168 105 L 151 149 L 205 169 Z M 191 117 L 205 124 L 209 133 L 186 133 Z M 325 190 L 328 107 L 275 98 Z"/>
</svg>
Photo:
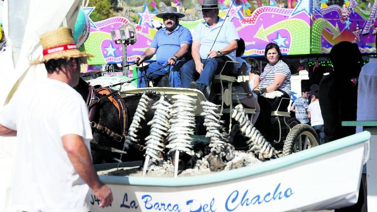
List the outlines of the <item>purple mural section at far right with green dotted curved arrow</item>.
<svg viewBox="0 0 377 212">
<path fill-rule="evenodd" d="M 329 53 L 340 41 L 359 45 L 361 53 L 375 53 L 377 1 L 372 11 L 362 10 L 355 0 L 346 0 L 344 6 L 322 5 L 312 17 L 311 53 Z"/>
</svg>

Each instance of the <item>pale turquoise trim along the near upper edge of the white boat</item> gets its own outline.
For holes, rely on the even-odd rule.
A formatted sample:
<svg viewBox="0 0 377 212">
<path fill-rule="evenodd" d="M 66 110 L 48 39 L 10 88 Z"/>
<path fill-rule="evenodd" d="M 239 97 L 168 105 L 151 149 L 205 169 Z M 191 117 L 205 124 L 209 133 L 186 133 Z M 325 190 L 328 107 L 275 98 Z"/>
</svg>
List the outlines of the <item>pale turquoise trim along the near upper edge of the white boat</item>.
<svg viewBox="0 0 377 212">
<path fill-rule="evenodd" d="M 367 142 L 370 137 L 371 133 L 364 131 L 289 156 L 272 159 L 258 165 L 242 167 L 229 171 L 215 172 L 206 175 L 178 178 L 100 176 L 100 179 L 104 183 L 112 185 L 179 187 L 214 184 L 230 180 L 237 180 L 291 166 L 305 160 L 313 159 L 334 151 Z"/>
</svg>

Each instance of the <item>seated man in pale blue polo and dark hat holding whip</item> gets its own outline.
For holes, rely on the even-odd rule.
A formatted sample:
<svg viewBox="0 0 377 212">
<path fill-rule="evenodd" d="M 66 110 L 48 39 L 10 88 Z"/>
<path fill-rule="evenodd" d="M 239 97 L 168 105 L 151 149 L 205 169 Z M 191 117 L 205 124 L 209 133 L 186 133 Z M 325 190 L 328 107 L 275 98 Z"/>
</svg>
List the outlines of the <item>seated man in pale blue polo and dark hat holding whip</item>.
<svg viewBox="0 0 377 212">
<path fill-rule="evenodd" d="M 210 84 L 215 71 L 225 60 L 236 58 L 240 37 L 232 22 L 218 16 L 217 0 L 203 0 L 200 8 L 204 21 L 195 28 L 192 41 L 192 60 L 181 69 L 182 87 L 201 91 Z M 195 81 L 196 80 L 196 81 Z"/>
</svg>

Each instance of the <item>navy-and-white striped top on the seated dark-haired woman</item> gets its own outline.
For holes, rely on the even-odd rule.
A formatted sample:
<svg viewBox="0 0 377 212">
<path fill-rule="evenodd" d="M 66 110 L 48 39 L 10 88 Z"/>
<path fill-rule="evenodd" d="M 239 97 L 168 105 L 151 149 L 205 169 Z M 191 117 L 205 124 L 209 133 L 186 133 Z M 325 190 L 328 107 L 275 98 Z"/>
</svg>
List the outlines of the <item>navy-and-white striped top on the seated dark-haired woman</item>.
<svg viewBox="0 0 377 212">
<path fill-rule="evenodd" d="M 283 62 L 283 60 L 279 60 L 273 66 L 267 63 L 260 77 L 261 82 L 259 83 L 259 88 L 266 88 L 272 84 L 275 74 L 282 74 L 285 76 L 284 82 L 279 87 L 279 90 L 283 90 L 291 96 L 291 70 L 289 70 L 287 63 Z"/>
</svg>

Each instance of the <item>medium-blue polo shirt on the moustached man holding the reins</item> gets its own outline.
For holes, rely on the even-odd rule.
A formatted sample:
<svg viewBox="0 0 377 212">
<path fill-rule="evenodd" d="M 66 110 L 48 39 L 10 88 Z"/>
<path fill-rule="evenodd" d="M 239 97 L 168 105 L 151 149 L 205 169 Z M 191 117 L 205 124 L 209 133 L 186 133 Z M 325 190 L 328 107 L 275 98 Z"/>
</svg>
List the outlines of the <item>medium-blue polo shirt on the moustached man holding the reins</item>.
<svg viewBox="0 0 377 212">
<path fill-rule="evenodd" d="M 170 34 L 166 28 L 161 28 L 155 34 L 150 47 L 156 48 L 156 60 L 160 64 L 167 63 L 167 59 L 172 57 L 181 49 L 181 44 L 191 45 L 192 37 L 190 31 L 181 25 L 178 25 Z"/>
</svg>

